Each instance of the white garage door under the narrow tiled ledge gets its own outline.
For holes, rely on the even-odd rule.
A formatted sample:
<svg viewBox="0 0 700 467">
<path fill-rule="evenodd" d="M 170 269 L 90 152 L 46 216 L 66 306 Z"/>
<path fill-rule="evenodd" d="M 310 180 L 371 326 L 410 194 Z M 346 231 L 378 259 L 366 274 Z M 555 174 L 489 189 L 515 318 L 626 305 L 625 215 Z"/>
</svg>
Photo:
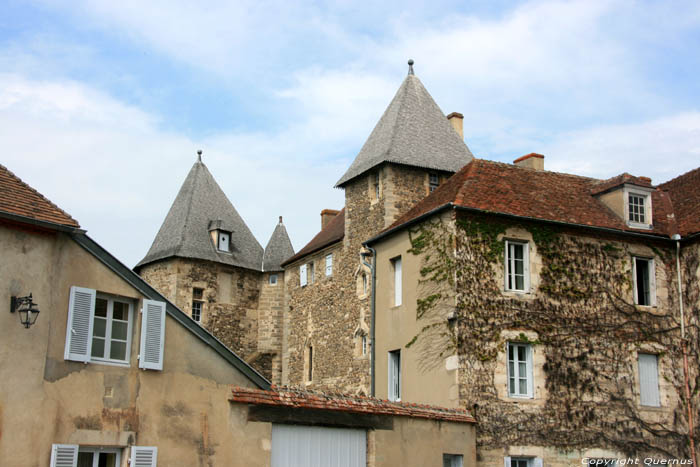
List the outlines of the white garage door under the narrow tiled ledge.
<svg viewBox="0 0 700 467">
<path fill-rule="evenodd" d="M 271 467 L 366 467 L 367 432 L 272 425 Z"/>
</svg>

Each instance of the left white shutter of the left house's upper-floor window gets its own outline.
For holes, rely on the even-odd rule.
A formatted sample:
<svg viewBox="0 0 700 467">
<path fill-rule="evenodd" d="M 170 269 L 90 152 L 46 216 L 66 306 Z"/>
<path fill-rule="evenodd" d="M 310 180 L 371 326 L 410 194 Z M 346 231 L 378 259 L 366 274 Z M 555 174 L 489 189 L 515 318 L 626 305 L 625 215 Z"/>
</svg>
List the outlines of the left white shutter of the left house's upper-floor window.
<svg viewBox="0 0 700 467">
<path fill-rule="evenodd" d="M 66 348 L 63 353 L 66 360 L 90 361 L 96 296 L 97 292 L 94 289 L 75 286 L 70 288 Z"/>
</svg>

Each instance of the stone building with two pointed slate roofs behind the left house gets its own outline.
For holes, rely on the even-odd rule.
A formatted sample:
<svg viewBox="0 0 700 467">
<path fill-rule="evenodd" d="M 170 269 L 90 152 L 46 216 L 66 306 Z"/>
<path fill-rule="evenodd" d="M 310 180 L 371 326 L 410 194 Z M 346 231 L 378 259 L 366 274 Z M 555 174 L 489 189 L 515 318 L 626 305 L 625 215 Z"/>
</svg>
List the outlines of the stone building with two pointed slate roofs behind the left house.
<svg viewBox="0 0 700 467">
<path fill-rule="evenodd" d="M 272 381 L 280 382 L 282 217 L 265 249 L 198 160 L 134 270 Z"/>
</svg>

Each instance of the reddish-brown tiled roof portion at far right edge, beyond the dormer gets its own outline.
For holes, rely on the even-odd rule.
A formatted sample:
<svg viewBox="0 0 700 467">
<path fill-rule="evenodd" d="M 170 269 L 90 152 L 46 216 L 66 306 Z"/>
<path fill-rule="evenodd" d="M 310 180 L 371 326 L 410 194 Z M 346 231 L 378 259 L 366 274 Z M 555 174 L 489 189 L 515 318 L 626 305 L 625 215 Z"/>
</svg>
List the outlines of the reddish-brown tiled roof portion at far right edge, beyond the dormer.
<svg viewBox="0 0 700 467">
<path fill-rule="evenodd" d="M 676 222 L 683 236 L 700 232 L 700 167 L 659 185 L 673 201 Z"/>
</svg>

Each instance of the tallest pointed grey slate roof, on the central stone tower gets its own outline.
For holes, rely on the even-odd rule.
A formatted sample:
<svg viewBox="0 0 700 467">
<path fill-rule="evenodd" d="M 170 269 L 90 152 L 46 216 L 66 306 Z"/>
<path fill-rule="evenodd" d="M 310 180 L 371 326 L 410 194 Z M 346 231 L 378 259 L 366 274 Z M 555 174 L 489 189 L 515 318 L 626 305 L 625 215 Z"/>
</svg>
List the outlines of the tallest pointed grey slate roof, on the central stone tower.
<svg viewBox="0 0 700 467">
<path fill-rule="evenodd" d="M 383 162 L 457 172 L 473 158 L 411 69 L 360 153 L 335 186 L 342 187 Z"/>
</svg>

